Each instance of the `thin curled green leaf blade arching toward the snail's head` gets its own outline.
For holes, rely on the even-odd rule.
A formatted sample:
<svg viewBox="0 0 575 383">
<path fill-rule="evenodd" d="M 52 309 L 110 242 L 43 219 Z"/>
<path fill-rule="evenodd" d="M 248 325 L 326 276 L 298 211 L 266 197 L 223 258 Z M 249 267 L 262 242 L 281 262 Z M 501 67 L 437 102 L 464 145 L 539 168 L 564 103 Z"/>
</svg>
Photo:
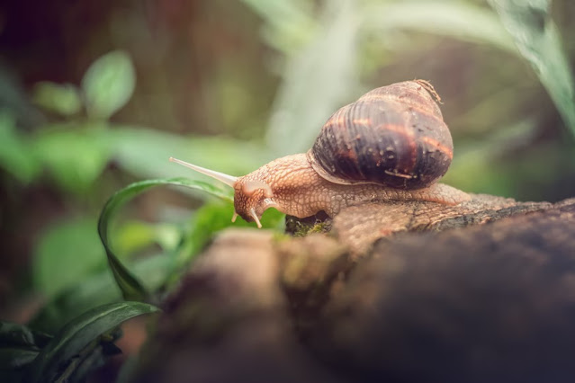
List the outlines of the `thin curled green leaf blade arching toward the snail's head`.
<svg viewBox="0 0 575 383">
<path fill-rule="evenodd" d="M 138 195 L 142 191 L 159 186 L 159 185 L 176 185 L 185 186 L 190 189 L 206 191 L 211 195 L 219 197 L 223 200 L 231 201 L 232 198 L 228 192 L 222 191 L 221 189 L 211 185 L 210 183 L 202 183 L 201 181 L 191 181 L 184 178 L 173 178 L 164 180 L 148 180 L 139 183 L 132 183 L 122 189 L 117 191 L 111 198 L 106 202 L 100 214 L 100 219 L 98 221 L 98 233 L 100 239 L 102 240 L 104 249 L 108 257 L 108 263 L 112 269 L 112 273 L 116 283 L 121 289 L 121 292 L 126 299 L 133 300 L 145 300 L 148 297 L 147 290 L 138 281 L 136 277 L 120 262 L 118 257 L 112 252 L 112 248 L 108 239 L 108 227 L 110 226 L 113 214 L 119 209 L 124 203 Z"/>
</svg>

